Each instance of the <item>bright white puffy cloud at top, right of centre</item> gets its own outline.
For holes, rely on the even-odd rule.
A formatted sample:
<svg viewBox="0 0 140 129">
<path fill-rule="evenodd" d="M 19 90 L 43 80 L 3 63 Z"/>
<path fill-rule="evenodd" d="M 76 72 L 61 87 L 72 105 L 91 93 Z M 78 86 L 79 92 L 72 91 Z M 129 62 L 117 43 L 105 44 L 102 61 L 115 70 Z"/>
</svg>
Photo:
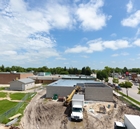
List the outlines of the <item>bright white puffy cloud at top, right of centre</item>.
<svg viewBox="0 0 140 129">
<path fill-rule="evenodd" d="M 83 30 L 100 30 L 106 26 L 106 21 L 110 16 L 102 13 L 102 0 L 90 0 L 87 4 L 80 4 L 76 10 L 77 20 L 81 23 Z"/>
</svg>

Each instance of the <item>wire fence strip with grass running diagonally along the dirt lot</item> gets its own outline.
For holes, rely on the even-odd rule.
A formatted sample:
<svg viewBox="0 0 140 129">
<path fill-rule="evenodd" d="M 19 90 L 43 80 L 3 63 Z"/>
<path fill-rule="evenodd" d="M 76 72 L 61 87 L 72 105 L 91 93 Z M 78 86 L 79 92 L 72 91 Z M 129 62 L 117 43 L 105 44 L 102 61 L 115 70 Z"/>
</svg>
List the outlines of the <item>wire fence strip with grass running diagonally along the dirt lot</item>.
<svg viewBox="0 0 140 129">
<path fill-rule="evenodd" d="M 19 111 L 19 109 L 25 104 L 25 102 L 28 102 L 28 100 L 30 100 L 30 98 L 32 98 L 34 95 L 35 93 L 27 93 L 15 107 L 0 115 L 0 123 L 3 123 L 3 121 L 15 115 Z"/>
</svg>

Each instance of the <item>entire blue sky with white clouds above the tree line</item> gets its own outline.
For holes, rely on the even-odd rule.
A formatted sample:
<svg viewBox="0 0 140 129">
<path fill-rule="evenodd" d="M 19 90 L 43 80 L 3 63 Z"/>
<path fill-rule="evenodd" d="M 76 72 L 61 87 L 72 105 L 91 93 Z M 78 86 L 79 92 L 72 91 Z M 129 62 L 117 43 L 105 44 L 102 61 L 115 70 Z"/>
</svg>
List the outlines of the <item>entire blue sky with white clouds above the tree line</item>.
<svg viewBox="0 0 140 129">
<path fill-rule="evenodd" d="M 139 0 L 0 0 L 0 63 L 140 66 Z"/>
</svg>

